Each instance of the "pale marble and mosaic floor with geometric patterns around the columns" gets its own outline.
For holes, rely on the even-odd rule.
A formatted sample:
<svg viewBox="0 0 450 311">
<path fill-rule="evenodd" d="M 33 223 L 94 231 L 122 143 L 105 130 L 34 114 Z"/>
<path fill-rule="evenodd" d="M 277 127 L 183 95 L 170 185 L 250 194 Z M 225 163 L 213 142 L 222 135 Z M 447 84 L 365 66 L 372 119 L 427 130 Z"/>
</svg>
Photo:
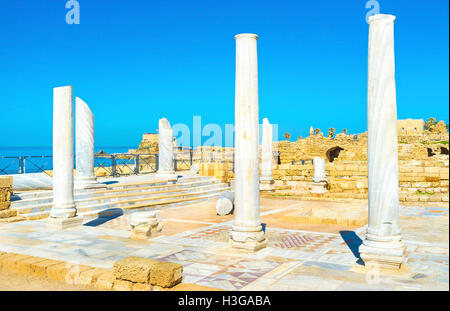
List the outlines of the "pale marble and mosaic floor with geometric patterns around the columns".
<svg viewBox="0 0 450 311">
<path fill-rule="evenodd" d="M 127 215 L 64 231 L 47 229 L 45 221 L 3 224 L 0 250 L 103 268 L 126 256 L 178 262 L 184 282 L 225 290 L 449 290 L 448 209 L 402 208 L 405 269 L 380 274 L 360 264 L 365 227 L 294 230 L 291 223 L 267 222 L 268 246 L 243 253 L 229 249 L 232 216 L 215 215 L 214 203 L 160 211 L 165 229 L 148 241 L 129 239 Z M 262 199 L 261 216 L 301 206 Z"/>
</svg>

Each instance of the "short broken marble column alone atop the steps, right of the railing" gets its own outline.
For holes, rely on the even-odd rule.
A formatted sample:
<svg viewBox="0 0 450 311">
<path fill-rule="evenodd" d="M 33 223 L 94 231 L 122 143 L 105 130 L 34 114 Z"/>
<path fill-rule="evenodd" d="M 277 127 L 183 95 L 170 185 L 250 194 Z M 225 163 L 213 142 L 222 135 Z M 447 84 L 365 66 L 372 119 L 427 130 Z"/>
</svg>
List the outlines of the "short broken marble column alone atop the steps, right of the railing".
<svg viewBox="0 0 450 311">
<path fill-rule="evenodd" d="M 173 168 L 173 131 L 166 118 L 159 120 L 158 176 L 169 181 L 177 179 Z"/>
</svg>

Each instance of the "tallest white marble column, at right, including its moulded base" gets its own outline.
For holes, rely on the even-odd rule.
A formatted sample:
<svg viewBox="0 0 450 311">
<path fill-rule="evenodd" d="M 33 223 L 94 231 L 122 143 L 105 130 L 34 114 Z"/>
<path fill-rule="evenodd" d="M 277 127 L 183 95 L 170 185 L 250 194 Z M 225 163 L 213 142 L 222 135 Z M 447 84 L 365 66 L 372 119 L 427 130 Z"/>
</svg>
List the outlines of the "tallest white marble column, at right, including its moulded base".
<svg viewBox="0 0 450 311">
<path fill-rule="evenodd" d="M 399 225 L 397 108 L 393 15 L 369 18 L 367 154 L 369 225 L 361 259 L 400 268 L 405 247 Z"/>
</svg>

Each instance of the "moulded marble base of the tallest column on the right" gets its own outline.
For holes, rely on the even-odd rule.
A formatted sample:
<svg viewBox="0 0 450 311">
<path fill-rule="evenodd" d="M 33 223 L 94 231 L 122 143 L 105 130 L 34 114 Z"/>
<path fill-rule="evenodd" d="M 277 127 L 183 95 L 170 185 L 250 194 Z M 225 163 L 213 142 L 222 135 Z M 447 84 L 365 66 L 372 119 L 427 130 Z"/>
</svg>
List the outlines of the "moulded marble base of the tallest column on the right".
<svg viewBox="0 0 450 311">
<path fill-rule="evenodd" d="M 398 270 L 403 263 L 405 250 L 399 236 L 376 237 L 367 234 L 359 247 L 359 254 L 364 265 L 376 262 L 380 268 Z"/>
</svg>

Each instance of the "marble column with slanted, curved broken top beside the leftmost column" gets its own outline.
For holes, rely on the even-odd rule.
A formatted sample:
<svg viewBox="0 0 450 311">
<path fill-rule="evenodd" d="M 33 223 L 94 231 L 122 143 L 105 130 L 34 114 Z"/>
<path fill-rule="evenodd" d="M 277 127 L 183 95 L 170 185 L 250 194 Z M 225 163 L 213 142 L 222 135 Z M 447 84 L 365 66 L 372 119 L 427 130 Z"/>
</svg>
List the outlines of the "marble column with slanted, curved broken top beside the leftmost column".
<svg viewBox="0 0 450 311">
<path fill-rule="evenodd" d="M 94 173 L 94 115 L 81 98 L 76 97 L 75 104 L 75 188 L 106 187 Z"/>
</svg>

